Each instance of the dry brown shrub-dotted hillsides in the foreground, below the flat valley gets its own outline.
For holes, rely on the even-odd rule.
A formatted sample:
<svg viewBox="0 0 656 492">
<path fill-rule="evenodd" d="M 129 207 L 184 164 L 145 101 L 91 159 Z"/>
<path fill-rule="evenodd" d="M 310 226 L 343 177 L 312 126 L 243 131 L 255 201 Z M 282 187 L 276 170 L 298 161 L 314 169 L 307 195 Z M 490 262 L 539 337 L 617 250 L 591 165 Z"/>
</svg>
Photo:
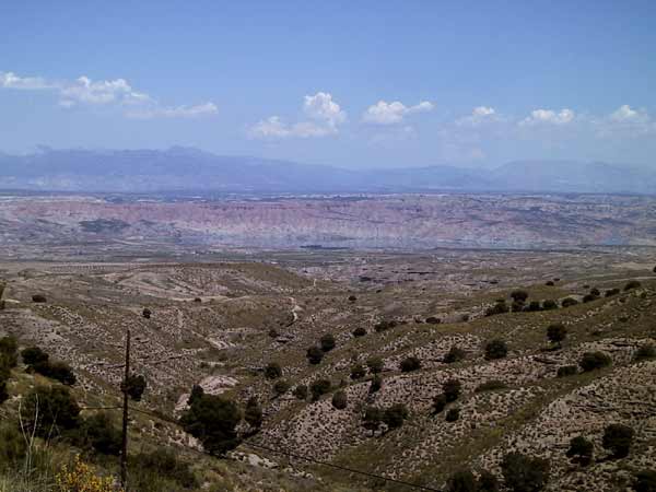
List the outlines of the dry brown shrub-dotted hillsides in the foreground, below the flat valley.
<svg viewBox="0 0 656 492">
<path fill-rule="evenodd" d="M 195 384 L 243 409 L 255 397 L 261 425 L 241 424 L 241 444 L 219 461 L 224 478 L 254 466 L 285 490 L 460 490 L 449 479 L 470 470 L 513 487 L 502 465 L 517 452 L 548 462 L 544 490 L 620 491 L 654 468 L 653 258 L 280 261 L 7 263 L 0 336 L 70 364 L 81 401 L 113 405 L 129 327 L 148 382 L 136 449 L 198 449 L 175 423 Z M 550 326 L 561 332 L 551 341 Z M 3 412 L 40 378 L 24 371 L 13 371 Z M 610 424 L 632 430 L 626 453 L 608 447 Z M 591 443 L 585 466 L 567 456 L 577 436 Z"/>
</svg>

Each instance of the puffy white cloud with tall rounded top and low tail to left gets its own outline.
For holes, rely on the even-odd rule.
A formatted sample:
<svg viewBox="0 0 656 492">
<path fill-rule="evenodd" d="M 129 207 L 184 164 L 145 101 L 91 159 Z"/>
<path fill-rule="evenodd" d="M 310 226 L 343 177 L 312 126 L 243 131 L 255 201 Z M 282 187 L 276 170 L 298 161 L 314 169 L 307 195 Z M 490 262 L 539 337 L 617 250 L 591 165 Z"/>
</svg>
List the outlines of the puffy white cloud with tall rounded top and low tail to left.
<svg viewBox="0 0 656 492">
<path fill-rule="evenodd" d="M 270 116 L 250 127 L 248 133 L 261 139 L 325 137 L 337 133 L 338 127 L 347 121 L 347 113 L 327 92 L 306 95 L 303 113 L 308 120 L 286 124 L 280 116 Z"/>
</svg>

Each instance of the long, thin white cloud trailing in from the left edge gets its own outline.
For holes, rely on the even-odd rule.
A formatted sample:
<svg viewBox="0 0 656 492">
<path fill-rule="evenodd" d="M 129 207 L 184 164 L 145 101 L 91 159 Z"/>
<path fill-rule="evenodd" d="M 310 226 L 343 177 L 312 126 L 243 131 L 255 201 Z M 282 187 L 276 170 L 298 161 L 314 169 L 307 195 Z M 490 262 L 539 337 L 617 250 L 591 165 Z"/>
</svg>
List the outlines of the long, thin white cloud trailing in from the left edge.
<svg viewBox="0 0 656 492">
<path fill-rule="evenodd" d="M 126 116 L 139 118 L 176 118 L 214 114 L 214 103 L 196 106 L 168 107 L 144 92 L 139 92 L 125 79 L 93 81 L 82 75 L 74 81 L 48 81 L 40 77 L 19 77 L 13 72 L 0 72 L 0 89 L 50 91 L 59 97 L 59 105 L 70 108 L 80 105 L 115 105 Z"/>
</svg>

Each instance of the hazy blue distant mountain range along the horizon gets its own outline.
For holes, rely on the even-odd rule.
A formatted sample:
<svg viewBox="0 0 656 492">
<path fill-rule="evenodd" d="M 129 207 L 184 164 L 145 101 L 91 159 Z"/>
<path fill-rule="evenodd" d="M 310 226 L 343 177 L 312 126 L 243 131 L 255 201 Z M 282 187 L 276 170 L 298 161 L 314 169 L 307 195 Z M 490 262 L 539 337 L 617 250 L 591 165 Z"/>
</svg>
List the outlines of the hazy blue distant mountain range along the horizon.
<svg viewBox="0 0 656 492">
<path fill-rule="evenodd" d="M 656 171 L 600 162 L 518 161 L 351 171 L 197 149 L 0 153 L 0 189 L 34 191 L 410 192 L 542 191 L 656 195 Z"/>
</svg>

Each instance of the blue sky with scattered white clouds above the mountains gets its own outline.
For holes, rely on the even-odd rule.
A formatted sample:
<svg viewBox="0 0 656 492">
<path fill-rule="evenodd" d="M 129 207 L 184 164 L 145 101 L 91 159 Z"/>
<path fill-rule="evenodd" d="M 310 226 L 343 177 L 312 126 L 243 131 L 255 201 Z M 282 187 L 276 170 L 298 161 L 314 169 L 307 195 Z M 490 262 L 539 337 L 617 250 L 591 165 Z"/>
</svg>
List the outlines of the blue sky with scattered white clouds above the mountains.
<svg viewBox="0 0 656 492">
<path fill-rule="evenodd" d="M 0 150 L 656 167 L 654 1 L 5 1 Z"/>
</svg>

